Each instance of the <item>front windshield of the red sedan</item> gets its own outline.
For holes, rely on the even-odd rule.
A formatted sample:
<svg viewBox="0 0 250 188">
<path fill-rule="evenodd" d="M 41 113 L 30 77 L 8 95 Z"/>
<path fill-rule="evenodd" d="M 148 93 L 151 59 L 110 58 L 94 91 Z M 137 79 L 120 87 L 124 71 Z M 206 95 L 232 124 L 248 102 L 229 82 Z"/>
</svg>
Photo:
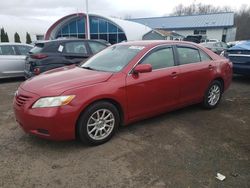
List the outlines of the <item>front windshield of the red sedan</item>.
<svg viewBox="0 0 250 188">
<path fill-rule="evenodd" d="M 131 45 L 111 46 L 90 58 L 82 68 L 105 72 L 121 71 L 144 47 Z"/>
</svg>

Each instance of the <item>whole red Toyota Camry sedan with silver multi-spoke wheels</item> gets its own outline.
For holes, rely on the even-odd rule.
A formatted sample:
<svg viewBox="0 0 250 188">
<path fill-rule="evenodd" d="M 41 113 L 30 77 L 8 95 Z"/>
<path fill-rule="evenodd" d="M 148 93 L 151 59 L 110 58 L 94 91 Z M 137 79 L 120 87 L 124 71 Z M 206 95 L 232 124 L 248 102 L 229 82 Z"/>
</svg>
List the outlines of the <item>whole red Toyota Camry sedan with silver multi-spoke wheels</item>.
<svg viewBox="0 0 250 188">
<path fill-rule="evenodd" d="M 27 80 L 14 111 L 27 133 L 98 145 L 120 125 L 195 103 L 215 108 L 231 78 L 232 63 L 199 45 L 127 42 Z"/>
</svg>

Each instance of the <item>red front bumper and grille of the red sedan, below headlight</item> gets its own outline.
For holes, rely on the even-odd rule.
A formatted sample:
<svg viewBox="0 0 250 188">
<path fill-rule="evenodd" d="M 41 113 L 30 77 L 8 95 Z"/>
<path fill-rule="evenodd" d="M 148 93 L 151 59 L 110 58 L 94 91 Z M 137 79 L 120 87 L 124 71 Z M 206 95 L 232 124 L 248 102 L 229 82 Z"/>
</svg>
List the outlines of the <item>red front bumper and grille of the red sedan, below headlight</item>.
<svg viewBox="0 0 250 188">
<path fill-rule="evenodd" d="M 24 104 L 18 97 L 28 97 Z M 16 121 L 22 129 L 41 138 L 50 140 L 75 139 L 75 111 L 71 106 L 36 108 L 32 105 L 39 98 L 38 95 L 18 89 L 18 96 L 13 101 Z"/>
</svg>

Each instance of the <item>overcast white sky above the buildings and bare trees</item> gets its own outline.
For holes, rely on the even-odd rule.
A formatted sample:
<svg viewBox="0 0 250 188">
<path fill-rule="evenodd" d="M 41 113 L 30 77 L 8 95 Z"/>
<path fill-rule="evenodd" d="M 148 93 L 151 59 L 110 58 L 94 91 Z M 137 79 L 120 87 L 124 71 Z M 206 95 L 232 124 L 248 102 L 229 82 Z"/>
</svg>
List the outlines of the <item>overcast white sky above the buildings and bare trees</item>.
<svg viewBox="0 0 250 188">
<path fill-rule="evenodd" d="M 90 12 L 116 17 L 162 16 L 172 12 L 178 4 L 189 5 L 192 2 L 212 4 L 214 6 L 231 6 L 240 8 L 250 5 L 249 0 L 89 0 Z M 85 0 L 8 0 L 1 2 L 0 14 L 42 19 L 59 18 L 73 12 L 85 11 Z"/>
</svg>

